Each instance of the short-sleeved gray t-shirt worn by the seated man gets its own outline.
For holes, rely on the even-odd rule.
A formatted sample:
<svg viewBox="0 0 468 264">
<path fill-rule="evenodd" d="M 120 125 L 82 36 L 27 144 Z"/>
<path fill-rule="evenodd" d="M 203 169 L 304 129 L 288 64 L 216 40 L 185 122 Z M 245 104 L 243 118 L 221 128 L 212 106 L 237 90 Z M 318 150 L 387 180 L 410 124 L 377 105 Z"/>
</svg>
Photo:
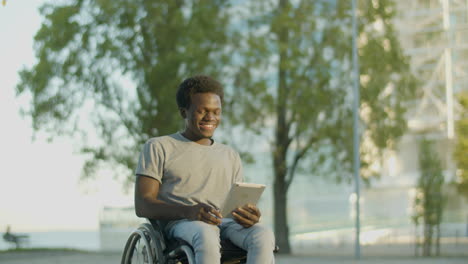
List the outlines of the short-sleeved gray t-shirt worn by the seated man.
<svg viewBox="0 0 468 264">
<path fill-rule="evenodd" d="M 203 202 L 218 208 L 231 185 L 243 180 L 236 151 L 217 142 L 200 145 L 180 133 L 148 140 L 135 174 L 161 183 L 158 194 L 161 201 L 182 205 Z"/>
</svg>

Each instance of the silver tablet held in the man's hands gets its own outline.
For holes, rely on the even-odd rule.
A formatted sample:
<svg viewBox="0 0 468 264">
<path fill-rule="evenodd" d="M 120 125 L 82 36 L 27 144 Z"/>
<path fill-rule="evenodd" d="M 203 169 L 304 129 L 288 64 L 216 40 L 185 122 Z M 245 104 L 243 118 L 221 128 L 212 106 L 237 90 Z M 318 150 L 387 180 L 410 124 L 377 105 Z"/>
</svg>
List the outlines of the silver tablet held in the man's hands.
<svg viewBox="0 0 468 264">
<path fill-rule="evenodd" d="M 248 203 L 257 205 L 265 187 L 264 184 L 257 183 L 234 183 L 220 209 L 221 214 L 225 218 L 232 218 L 231 212 L 237 207 L 244 206 Z"/>
</svg>

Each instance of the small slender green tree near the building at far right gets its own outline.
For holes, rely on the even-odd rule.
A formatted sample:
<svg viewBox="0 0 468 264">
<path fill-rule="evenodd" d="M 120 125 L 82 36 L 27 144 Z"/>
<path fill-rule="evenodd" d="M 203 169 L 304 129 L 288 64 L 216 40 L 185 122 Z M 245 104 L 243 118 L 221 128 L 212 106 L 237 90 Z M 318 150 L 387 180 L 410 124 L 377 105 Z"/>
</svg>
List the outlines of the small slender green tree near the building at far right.
<svg viewBox="0 0 468 264">
<path fill-rule="evenodd" d="M 431 247 L 436 232 L 436 254 L 440 255 L 440 224 L 444 209 L 442 187 L 444 175 L 442 164 L 434 151 L 434 143 L 423 139 L 419 147 L 418 193 L 415 197 L 413 222 L 423 226 L 423 256 L 431 256 Z"/>
</svg>

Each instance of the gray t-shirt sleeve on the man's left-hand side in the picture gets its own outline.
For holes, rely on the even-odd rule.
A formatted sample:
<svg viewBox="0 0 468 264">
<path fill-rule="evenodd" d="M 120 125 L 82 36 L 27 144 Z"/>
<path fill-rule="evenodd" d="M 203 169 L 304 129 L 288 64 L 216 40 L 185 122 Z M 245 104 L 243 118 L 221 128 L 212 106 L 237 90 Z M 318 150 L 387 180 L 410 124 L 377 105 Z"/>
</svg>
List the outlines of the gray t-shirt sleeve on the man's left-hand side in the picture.
<svg viewBox="0 0 468 264">
<path fill-rule="evenodd" d="M 138 158 L 135 175 L 149 176 L 162 183 L 164 170 L 164 151 L 161 145 L 155 141 L 146 142 Z"/>
</svg>

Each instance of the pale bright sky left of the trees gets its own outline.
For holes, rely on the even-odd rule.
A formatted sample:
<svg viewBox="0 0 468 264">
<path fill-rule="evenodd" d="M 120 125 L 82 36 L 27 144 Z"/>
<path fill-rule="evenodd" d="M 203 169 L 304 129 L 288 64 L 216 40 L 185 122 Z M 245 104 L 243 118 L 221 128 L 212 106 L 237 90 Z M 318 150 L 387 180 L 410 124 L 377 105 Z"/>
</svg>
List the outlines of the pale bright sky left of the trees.
<svg viewBox="0 0 468 264">
<path fill-rule="evenodd" d="M 31 121 L 20 115 L 18 72 L 35 62 L 33 38 L 43 0 L 0 5 L 0 232 L 97 230 L 103 206 L 130 206 L 111 173 L 80 181 L 84 157 L 73 138 L 32 139 Z M 74 144 L 75 143 L 75 144 Z"/>
</svg>

